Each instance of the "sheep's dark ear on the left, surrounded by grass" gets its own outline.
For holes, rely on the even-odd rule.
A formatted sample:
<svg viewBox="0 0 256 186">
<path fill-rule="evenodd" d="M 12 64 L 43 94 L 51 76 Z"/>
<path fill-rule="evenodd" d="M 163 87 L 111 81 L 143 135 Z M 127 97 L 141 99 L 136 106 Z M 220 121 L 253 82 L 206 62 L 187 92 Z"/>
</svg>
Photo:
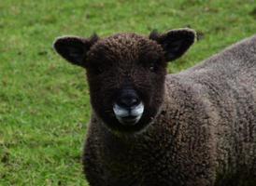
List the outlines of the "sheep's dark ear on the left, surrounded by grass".
<svg viewBox="0 0 256 186">
<path fill-rule="evenodd" d="M 57 38 L 53 43 L 53 47 L 65 60 L 75 65 L 86 67 L 86 54 L 97 40 L 98 36 L 96 34 L 88 39 L 64 36 Z"/>
</svg>

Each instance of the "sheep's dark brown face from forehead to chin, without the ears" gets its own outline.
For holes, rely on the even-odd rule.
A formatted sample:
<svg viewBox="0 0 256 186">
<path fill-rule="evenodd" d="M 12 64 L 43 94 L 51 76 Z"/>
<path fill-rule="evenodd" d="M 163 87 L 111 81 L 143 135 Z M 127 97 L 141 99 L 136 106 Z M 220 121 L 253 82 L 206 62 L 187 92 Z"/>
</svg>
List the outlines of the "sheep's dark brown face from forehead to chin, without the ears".
<svg viewBox="0 0 256 186">
<path fill-rule="evenodd" d="M 95 113 L 116 130 L 146 126 L 162 102 L 165 67 L 164 51 L 153 40 L 123 33 L 98 41 L 87 66 Z"/>
</svg>

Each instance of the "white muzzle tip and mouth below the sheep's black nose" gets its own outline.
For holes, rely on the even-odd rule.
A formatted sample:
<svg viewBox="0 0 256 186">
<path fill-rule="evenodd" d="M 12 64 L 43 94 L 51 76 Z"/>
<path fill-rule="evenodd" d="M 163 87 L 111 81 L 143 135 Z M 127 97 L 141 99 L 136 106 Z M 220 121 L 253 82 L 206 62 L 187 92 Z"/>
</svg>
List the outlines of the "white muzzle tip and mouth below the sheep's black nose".
<svg viewBox="0 0 256 186">
<path fill-rule="evenodd" d="M 114 104 L 113 111 L 122 126 L 135 126 L 144 112 L 144 104 L 140 102 L 131 108 L 121 107 L 118 104 Z"/>
</svg>

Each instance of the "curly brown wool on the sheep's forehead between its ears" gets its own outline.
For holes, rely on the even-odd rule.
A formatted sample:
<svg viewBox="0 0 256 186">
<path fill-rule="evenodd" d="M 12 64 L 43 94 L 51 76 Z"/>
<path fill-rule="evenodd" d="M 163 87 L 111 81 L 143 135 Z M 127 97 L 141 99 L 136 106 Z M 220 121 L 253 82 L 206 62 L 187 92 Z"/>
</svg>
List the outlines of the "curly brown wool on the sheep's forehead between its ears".
<svg viewBox="0 0 256 186">
<path fill-rule="evenodd" d="M 147 36 L 135 33 L 117 33 L 100 39 L 90 51 L 94 58 L 125 62 L 139 60 L 139 58 L 156 53 L 161 54 L 163 48 Z"/>
</svg>

